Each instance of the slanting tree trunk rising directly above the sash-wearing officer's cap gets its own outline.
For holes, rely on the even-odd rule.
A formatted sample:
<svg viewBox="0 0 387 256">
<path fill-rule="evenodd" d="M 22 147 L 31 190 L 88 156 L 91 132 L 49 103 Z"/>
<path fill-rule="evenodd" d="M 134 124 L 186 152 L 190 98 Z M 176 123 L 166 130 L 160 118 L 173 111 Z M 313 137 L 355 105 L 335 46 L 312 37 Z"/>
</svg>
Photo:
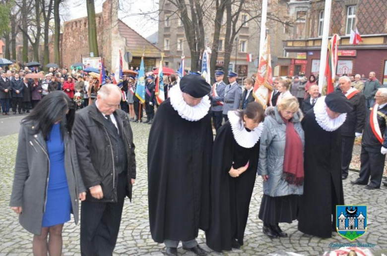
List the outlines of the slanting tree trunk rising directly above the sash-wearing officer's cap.
<svg viewBox="0 0 387 256">
<path fill-rule="evenodd" d="M 214 21 L 214 37 L 212 41 L 211 60 L 210 60 L 210 71 L 211 78 L 215 77 L 216 60 L 218 59 L 219 50 L 219 37 L 220 29 L 222 27 L 221 21 L 224 14 L 224 0 L 216 0 L 216 13 Z"/>
</svg>

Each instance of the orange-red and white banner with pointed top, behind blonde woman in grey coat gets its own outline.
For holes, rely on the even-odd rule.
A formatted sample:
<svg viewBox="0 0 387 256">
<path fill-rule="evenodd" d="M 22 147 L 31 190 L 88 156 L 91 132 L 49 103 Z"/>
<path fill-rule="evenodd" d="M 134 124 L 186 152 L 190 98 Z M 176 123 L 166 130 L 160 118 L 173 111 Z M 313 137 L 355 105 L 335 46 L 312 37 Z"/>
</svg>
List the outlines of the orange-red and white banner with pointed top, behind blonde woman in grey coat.
<svg viewBox="0 0 387 256">
<path fill-rule="evenodd" d="M 273 90 L 271 86 L 273 77 L 269 42 L 269 36 L 267 35 L 262 52 L 259 53 L 257 79 L 253 89 L 253 96 L 256 102 L 259 102 L 263 106 L 263 109 L 266 108 L 270 91 Z"/>
</svg>

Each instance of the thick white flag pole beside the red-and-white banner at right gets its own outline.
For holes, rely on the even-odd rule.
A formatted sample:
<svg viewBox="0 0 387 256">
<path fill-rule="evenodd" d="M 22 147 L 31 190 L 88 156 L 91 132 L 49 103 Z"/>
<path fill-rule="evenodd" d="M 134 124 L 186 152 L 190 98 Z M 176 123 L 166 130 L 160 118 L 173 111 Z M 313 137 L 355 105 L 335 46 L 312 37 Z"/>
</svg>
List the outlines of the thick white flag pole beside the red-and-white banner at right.
<svg viewBox="0 0 387 256">
<path fill-rule="evenodd" d="M 320 55 L 320 68 L 319 68 L 319 91 L 320 91 L 320 93 L 323 91 L 323 86 L 324 86 L 326 53 L 328 51 L 328 37 L 329 37 L 331 6 L 332 6 L 332 0 L 325 0 L 324 21 L 323 21 L 323 37 L 322 37 L 322 42 L 321 42 L 321 55 Z"/>
</svg>

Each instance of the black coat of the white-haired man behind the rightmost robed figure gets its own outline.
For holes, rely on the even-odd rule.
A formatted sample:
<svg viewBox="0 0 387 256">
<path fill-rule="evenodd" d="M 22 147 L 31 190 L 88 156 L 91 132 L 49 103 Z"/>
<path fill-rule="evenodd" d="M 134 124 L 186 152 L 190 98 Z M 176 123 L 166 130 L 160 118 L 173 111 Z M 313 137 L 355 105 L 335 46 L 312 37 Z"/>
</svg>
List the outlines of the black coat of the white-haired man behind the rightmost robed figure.
<svg viewBox="0 0 387 256">
<path fill-rule="evenodd" d="M 345 122 L 340 127 L 341 135 L 355 137 L 355 132 L 362 133 L 366 118 L 366 98 L 359 92 L 351 99 L 348 99 L 353 106 L 353 110 L 347 113 Z"/>
</svg>

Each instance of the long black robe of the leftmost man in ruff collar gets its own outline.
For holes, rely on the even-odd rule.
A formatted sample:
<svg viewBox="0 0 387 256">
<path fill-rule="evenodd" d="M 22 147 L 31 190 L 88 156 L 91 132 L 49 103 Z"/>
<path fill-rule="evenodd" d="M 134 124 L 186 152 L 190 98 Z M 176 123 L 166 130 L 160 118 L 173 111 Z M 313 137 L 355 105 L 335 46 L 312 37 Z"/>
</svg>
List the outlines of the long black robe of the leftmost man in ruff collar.
<svg viewBox="0 0 387 256">
<path fill-rule="evenodd" d="M 211 115 L 183 119 L 167 99 L 148 141 L 149 224 L 155 242 L 189 241 L 209 226 Z"/>
</svg>

